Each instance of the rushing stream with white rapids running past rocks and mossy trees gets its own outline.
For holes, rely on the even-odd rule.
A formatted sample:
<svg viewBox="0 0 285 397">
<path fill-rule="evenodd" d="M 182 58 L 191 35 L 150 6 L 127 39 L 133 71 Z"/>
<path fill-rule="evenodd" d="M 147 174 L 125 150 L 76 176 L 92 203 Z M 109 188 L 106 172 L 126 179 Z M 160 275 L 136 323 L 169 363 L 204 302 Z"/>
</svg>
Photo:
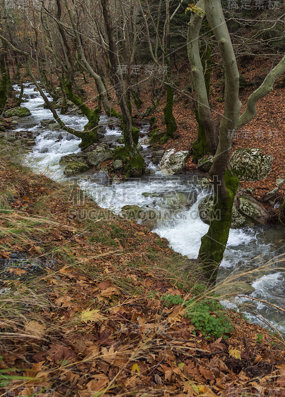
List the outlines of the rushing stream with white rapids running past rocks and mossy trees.
<svg viewBox="0 0 285 397">
<path fill-rule="evenodd" d="M 43 107 L 43 100 L 32 85 L 27 84 L 25 95 L 27 99 L 23 105 L 30 110 L 31 116 L 19 119 L 16 121 L 18 125 L 8 131 L 8 137 L 12 138 L 12 144 L 17 145 L 17 150 L 19 147 L 24 149 L 25 164 L 53 180 L 69 181 L 74 186 L 79 186 L 100 207 L 124 215 L 125 218 L 139 220 L 159 236 L 165 237 L 174 251 L 189 259 L 197 258 L 200 238 L 208 229 L 208 225 L 201 219 L 199 207 L 203 199 L 211 194 L 209 185 L 200 184 L 204 182 L 201 175 L 192 173 L 169 176 L 162 173 L 159 164 L 152 162 L 149 143 L 143 143 L 147 138 L 146 125 L 141 127 L 140 141 L 141 153 L 150 175 L 113 183 L 108 168 L 101 166 L 100 169 L 94 167 L 83 174 L 66 178 L 66 164 L 61 165 L 61 159 L 73 156 L 74 153 L 81 155 L 79 140 L 52 125 L 50 112 Z M 120 129 L 114 129 L 104 117 L 101 116 L 101 123 L 105 133 L 100 145 L 105 145 L 108 150 L 109 146 L 112 148 L 121 145 L 118 141 L 122 135 Z M 73 113 L 63 116 L 63 119 L 75 129 L 83 128 L 86 122 L 82 116 Z M 19 135 L 22 135 L 20 139 L 17 138 Z M 25 142 L 31 142 L 32 146 Z M 112 165 L 112 160 L 103 162 L 103 165 L 108 165 L 108 162 Z M 115 178 L 120 181 L 120 173 L 115 173 Z M 137 217 L 137 214 L 142 213 L 143 216 Z M 135 216 L 130 217 L 133 214 Z M 232 229 L 218 274 L 219 283 L 237 282 L 238 287 L 232 288 L 230 292 L 253 298 L 258 314 L 252 311 L 252 303 L 248 305 L 247 299 L 243 297 L 231 298 L 230 301 L 227 299 L 223 302 L 225 305 L 241 308 L 251 321 L 272 325 L 281 331 L 284 329 L 283 312 L 272 311 L 270 306 L 261 304 L 259 300 L 267 300 L 281 307 L 284 305 L 283 236 L 282 227 L 270 225 L 251 224 Z M 264 323 L 264 318 L 267 323 Z"/>
</svg>

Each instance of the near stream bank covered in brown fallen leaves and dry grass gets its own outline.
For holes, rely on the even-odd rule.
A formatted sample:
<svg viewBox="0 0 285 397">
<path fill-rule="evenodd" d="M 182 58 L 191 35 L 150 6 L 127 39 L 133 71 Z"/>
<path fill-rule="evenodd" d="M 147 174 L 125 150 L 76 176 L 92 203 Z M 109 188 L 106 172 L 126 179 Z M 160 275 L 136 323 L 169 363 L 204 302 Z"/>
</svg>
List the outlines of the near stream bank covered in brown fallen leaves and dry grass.
<svg viewBox="0 0 285 397">
<path fill-rule="evenodd" d="M 0 143 L 0 396 L 285 397 L 280 335 L 220 309 L 166 240 Z"/>
</svg>

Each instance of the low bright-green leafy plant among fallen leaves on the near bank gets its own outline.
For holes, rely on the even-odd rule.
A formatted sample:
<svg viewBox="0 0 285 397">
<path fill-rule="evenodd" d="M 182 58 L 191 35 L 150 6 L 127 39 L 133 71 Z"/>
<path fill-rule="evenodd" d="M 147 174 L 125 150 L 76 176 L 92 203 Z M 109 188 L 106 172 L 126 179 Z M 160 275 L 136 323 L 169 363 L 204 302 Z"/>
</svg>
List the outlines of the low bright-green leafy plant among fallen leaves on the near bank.
<svg viewBox="0 0 285 397">
<path fill-rule="evenodd" d="M 170 294 L 163 295 L 160 299 L 165 301 L 167 307 L 170 304 L 185 307 L 185 317 L 188 317 L 195 326 L 194 335 L 196 335 L 196 331 L 202 331 L 206 338 L 210 338 L 210 335 L 214 338 L 219 338 L 222 335 L 227 338 L 224 334 L 233 329 L 225 310 L 214 298 L 201 300 L 191 298 L 184 301 L 181 296 Z"/>
</svg>

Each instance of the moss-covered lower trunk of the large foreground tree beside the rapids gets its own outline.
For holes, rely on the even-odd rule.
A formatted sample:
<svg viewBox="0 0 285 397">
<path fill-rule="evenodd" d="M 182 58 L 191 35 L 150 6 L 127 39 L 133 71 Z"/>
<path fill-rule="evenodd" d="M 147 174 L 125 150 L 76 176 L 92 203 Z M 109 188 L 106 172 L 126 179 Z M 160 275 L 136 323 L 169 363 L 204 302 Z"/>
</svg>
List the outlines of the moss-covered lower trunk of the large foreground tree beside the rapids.
<svg viewBox="0 0 285 397">
<path fill-rule="evenodd" d="M 222 192 L 219 189 L 221 185 L 215 184 L 214 205 L 210 214 L 210 226 L 208 233 L 201 238 L 201 247 L 199 251 L 199 261 L 202 271 L 207 279 L 214 284 L 217 275 L 217 269 L 223 259 L 223 253 L 228 240 L 232 205 L 238 188 L 239 180 L 228 169 L 224 177 L 220 176 L 217 181 L 224 183 L 226 190 Z"/>
</svg>

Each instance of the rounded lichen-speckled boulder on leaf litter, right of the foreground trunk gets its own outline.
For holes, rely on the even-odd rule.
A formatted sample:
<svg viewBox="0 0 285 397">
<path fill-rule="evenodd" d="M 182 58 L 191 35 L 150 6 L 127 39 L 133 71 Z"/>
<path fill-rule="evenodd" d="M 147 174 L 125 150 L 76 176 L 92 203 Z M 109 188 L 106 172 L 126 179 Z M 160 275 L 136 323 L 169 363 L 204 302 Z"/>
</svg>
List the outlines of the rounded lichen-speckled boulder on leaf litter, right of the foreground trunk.
<svg viewBox="0 0 285 397">
<path fill-rule="evenodd" d="M 260 149 L 238 149 L 230 157 L 230 166 L 241 181 L 261 181 L 271 172 L 274 158 Z"/>
</svg>

